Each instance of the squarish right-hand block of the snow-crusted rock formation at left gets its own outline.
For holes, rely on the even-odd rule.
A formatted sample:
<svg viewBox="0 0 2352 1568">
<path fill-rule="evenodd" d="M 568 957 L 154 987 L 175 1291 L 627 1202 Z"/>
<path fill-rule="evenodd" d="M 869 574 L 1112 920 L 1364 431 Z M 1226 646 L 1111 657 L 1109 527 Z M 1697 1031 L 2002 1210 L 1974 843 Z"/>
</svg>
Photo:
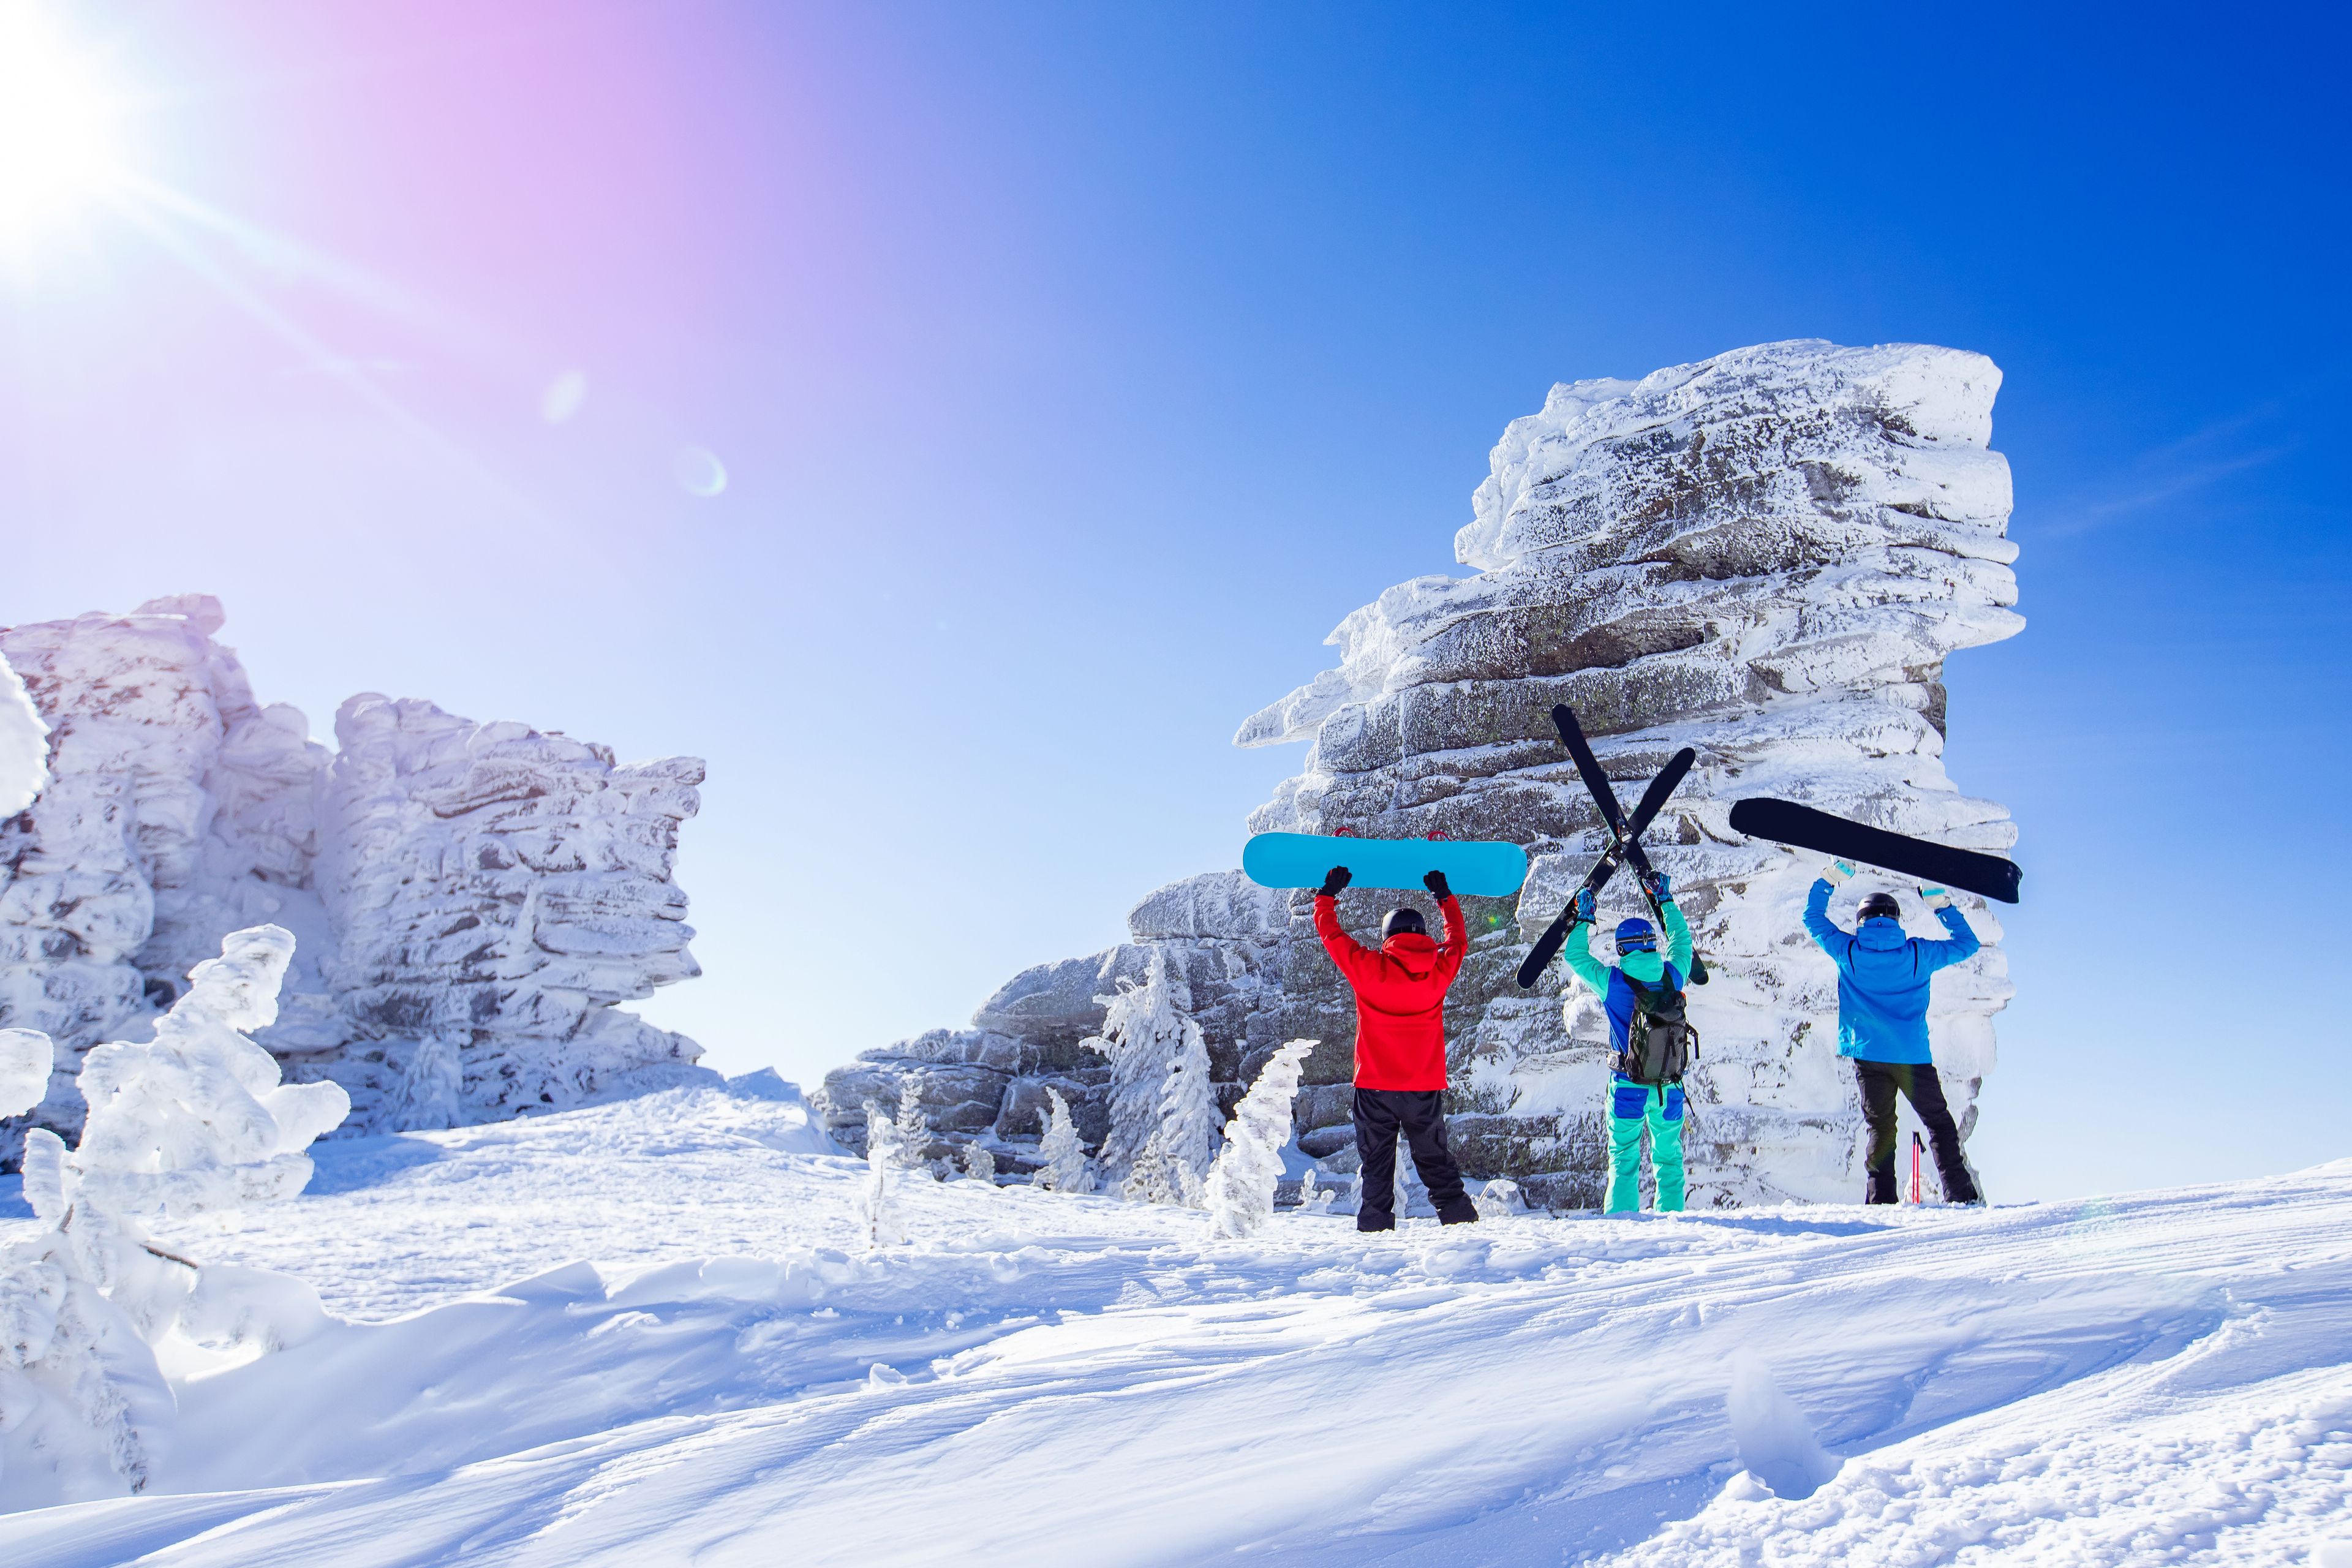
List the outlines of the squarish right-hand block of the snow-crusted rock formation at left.
<svg viewBox="0 0 2352 1568">
<path fill-rule="evenodd" d="M 687 1081 L 701 1048 L 619 1001 L 701 973 L 677 825 L 694 757 L 475 724 L 433 703 L 355 696 L 322 790 L 329 983 L 376 1072 L 365 1114 L 454 1126 Z M 355 1095 L 358 1098 L 358 1095 Z"/>
</svg>

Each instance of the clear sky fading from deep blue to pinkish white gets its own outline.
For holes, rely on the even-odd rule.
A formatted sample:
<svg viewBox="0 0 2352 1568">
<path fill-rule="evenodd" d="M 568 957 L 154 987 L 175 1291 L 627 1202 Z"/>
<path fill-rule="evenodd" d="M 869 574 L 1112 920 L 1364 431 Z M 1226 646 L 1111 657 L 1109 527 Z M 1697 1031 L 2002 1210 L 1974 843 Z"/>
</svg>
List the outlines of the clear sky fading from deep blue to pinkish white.
<svg viewBox="0 0 2352 1568">
<path fill-rule="evenodd" d="M 1994 1197 L 2352 1154 L 2340 14 L 480 12 L 75 14 L 219 216 L 0 284 L 0 621 L 207 590 L 320 733 L 708 757 L 647 1011 L 713 1063 L 1232 865 L 1298 766 L 1235 724 L 1456 569 L 1552 381 L 1907 339 L 2006 371 L 2027 630 L 1947 755 L 2027 872 Z"/>
</svg>

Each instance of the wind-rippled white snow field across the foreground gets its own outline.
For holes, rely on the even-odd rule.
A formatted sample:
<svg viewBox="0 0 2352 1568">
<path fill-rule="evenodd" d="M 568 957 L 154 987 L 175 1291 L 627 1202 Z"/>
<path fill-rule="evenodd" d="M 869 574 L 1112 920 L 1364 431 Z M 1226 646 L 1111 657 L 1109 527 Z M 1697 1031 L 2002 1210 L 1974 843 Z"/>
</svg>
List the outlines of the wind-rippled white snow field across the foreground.
<svg viewBox="0 0 2352 1568">
<path fill-rule="evenodd" d="M 814 1147 L 722 1091 L 318 1145 L 162 1244 L 339 1321 L 0 1561 L 2352 1568 L 2352 1161 L 1249 1241 L 913 1180 L 870 1253 Z"/>
</svg>

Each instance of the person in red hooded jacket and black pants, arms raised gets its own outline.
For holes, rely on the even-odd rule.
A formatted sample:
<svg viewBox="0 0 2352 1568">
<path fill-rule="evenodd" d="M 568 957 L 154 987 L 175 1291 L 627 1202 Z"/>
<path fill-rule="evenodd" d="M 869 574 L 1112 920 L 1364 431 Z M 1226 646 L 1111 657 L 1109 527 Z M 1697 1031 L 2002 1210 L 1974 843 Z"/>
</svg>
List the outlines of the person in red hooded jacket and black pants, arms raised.
<svg viewBox="0 0 2352 1568">
<path fill-rule="evenodd" d="M 1461 973 L 1470 933 L 1444 872 L 1421 882 L 1437 893 L 1446 943 L 1430 940 L 1421 910 L 1390 910 L 1381 950 L 1338 924 L 1338 891 L 1355 877 L 1334 865 L 1315 893 L 1315 933 L 1355 987 L 1355 1150 L 1364 1173 L 1355 1227 L 1397 1229 L 1397 1135 L 1414 1147 L 1414 1168 L 1446 1225 L 1477 1220 L 1463 1173 L 1446 1150 L 1446 987 Z"/>
</svg>

